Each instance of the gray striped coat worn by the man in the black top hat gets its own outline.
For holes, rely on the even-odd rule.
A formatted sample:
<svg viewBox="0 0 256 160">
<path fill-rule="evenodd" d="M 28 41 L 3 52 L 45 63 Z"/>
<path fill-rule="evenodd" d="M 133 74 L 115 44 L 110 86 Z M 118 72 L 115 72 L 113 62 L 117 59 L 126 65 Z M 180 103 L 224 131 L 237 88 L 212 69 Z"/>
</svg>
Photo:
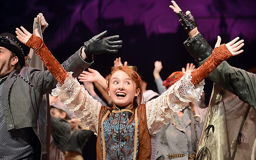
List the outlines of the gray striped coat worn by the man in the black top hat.
<svg viewBox="0 0 256 160">
<path fill-rule="evenodd" d="M 74 77 L 78 77 L 92 63 L 82 59 L 80 50 L 81 48 L 62 64 L 66 71 L 74 72 Z M 41 157 L 42 151 L 37 131 L 39 106 L 43 94 L 51 92 L 56 84 L 57 81 L 48 70 L 23 67 L 20 73 L 17 70 L 12 71 L 2 88 L 2 107 L 7 130 L 33 128 L 37 135 L 35 159 Z"/>
</svg>

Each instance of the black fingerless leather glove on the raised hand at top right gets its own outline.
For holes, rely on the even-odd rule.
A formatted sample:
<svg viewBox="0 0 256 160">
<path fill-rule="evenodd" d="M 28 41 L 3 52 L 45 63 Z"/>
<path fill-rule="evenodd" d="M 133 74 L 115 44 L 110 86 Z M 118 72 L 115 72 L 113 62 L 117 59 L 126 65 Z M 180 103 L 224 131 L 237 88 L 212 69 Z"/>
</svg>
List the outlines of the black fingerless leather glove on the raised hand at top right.
<svg viewBox="0 0 256 160">
<path fill-rule="evenodd" d="M 188 15 L 186 15 L 182 11 L 180 11 L 177 13 L 177 15 L 180 18 L 179 21 L 181 22 L 181 25 L 187 32 L 197 27 L 197 23 L 191 13 L 188 13 Z"/>
</svg>

